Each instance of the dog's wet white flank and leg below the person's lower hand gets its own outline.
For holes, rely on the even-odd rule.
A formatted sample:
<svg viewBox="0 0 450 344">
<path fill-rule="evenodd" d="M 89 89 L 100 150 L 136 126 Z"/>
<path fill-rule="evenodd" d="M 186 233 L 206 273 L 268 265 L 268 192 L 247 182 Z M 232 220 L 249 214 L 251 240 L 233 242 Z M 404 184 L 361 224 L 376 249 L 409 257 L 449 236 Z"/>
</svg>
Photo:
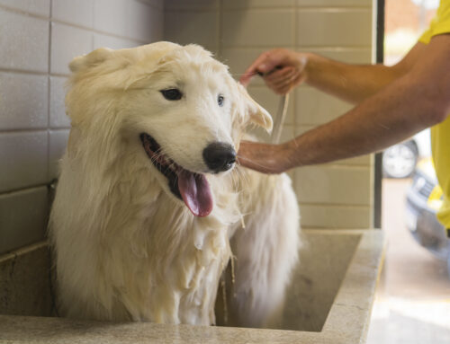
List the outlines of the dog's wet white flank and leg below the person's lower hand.
<svg viewBox="0 0 450 344">
<path fill-rule="evenodd" d="M 287 175 L 247 173 L 253 185 L 242 195 L 245 228 L 231 239 L 235 281 L 227 286 L 229 324 L 272 327 L 283 311 L 284 292 L 298 259 L 299 209 Z"/>
</svg>

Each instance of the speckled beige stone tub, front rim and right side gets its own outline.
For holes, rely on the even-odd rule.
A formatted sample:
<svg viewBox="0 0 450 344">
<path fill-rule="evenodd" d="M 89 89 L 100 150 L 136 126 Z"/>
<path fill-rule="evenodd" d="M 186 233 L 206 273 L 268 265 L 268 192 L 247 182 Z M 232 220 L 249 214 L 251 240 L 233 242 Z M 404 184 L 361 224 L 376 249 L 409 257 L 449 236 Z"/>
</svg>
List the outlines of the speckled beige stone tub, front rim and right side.
<svg viewBox="0 0 450 344">
<path fill-rule="evenodd" d="M 291 330 L 0 315 L 0 343 L 364 343 L 383 262 L 382 231 L 304 235 L 302 263 L 280 321 Z"/>
</svg>

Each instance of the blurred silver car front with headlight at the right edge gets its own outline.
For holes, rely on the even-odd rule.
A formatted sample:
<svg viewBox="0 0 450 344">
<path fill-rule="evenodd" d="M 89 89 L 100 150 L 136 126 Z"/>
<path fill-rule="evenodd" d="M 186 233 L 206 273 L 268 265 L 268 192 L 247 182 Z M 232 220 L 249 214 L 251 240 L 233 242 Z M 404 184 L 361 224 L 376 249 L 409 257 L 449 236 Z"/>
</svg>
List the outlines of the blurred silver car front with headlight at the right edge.
<svg viewBox="0 0 450 344">
<path fill-rule="evenodd" d="M 437 258 L 447 260 L 450 273 L 450 249 L 446 230 L 437 221 L 437 210 L 443 202 L 443 192 L 437 184 L 430 157 L 421 160 L 406 194 L 406 225 L 416 241 Z"/>
</svg>

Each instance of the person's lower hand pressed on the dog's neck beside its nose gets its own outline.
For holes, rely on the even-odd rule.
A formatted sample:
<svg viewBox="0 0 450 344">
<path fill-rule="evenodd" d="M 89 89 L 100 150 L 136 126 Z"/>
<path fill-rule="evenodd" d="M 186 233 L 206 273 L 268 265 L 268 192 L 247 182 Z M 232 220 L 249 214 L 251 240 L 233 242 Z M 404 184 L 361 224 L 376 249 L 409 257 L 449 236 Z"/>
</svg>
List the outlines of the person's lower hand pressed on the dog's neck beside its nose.
<svg viewBox="0 0 450 344">
<path fill-rule="evenodd" d="M 238 151 L 238 163 L 252 170 L 278 174 L 294 166 L 288 144 L 268 145 L 242 141 Z"/>
</svg>

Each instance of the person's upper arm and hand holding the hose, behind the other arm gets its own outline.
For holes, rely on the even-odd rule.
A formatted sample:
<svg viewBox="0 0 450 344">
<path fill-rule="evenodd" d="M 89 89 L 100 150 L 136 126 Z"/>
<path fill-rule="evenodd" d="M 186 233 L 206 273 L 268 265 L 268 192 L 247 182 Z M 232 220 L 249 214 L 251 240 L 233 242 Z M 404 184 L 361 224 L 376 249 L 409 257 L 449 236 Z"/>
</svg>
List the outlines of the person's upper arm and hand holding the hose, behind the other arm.
<svg viewBox="0 0 450 344">
<path fill-rule="evenodd" d="M 338 98 L 358 103 L 408 73 L 425 49 L 418 43 L 394 66 L 351 65 L 316 54 L 273 49 L 261 54 L 247 68 L 240 82 L 247 85 L 257 72 L 275 93 L 289 93 L 303 82 Z M 275 69 L 275 67 L 281 67 Z"/>
</svg>

